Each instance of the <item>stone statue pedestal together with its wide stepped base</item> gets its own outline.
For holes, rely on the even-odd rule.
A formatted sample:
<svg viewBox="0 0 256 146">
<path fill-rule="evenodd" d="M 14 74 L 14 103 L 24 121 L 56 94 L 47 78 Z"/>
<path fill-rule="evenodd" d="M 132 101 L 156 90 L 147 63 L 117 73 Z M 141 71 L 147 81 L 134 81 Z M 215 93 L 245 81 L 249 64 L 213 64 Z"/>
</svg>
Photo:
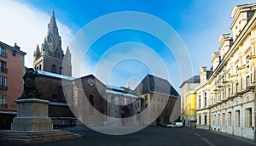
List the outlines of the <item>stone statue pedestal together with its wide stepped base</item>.
<svg viewBox="0 0 256 146">
<path fill-rule="evenodd" d="M 0 131 L 0 143 L 19 145 L 20 143 L 45 143 L 55 140 L 80 138 L 79 134 L 53 130 L 48 117 L 49 101 L 38 98 L 21 98 L 17 103 L 17 117 L 11 130 Z"/>
</svg>

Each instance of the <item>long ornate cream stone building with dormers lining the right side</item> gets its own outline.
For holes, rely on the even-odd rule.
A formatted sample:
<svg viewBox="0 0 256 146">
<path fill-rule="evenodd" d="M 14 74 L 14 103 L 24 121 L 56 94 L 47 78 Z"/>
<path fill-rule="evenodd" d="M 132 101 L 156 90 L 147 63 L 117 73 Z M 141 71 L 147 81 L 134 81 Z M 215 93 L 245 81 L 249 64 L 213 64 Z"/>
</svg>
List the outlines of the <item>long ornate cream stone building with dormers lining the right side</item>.
<svg viewBox="0 0 256 146">
<path fill-rule="evenodd" d="M 197 127 L 255 139 L 256 3 L 236 6 L 232 36 L 219 37 L 212 69 L 201 68 L 197 93 Z M 209 73 L 207 76 L 207 71 Z M 211 75 L 212 74 L 212 75 Z"/>
</svg>

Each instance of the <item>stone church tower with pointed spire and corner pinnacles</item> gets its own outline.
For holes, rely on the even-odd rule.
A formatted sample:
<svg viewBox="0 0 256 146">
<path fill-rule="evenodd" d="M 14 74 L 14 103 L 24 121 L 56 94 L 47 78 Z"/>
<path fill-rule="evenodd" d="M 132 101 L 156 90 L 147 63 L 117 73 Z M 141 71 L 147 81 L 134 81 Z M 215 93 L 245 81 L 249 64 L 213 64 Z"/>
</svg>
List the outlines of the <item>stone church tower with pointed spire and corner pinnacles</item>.
<svg viewBox="0 0 256 146">
<path fill-rule="evenodd" d="M 37 46 L 34 52 L 33 66 L 37 70 L 72 76 L 71 53 L 68 47 L 66 53 L 63 53 L 54 10 L 49 20 L 44 43 L 40 48 Z"/>
</svg>

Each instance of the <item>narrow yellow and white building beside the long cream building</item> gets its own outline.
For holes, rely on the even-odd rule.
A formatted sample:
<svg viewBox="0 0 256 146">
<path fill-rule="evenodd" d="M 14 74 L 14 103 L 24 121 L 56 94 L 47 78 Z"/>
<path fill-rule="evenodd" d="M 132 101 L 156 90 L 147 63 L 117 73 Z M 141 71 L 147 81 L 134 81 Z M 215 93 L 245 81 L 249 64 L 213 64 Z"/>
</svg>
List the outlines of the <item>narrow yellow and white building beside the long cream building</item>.
<svg viewBox="0 0 256 146">
<path fill-rule="evenodd" d="M 184 126 L 196 125 L 196 93 L 195 87 L 200 85 L 200 76 L 193 76 L 183 81 L 181 89 L 181 120 Z"/>
</svg>

